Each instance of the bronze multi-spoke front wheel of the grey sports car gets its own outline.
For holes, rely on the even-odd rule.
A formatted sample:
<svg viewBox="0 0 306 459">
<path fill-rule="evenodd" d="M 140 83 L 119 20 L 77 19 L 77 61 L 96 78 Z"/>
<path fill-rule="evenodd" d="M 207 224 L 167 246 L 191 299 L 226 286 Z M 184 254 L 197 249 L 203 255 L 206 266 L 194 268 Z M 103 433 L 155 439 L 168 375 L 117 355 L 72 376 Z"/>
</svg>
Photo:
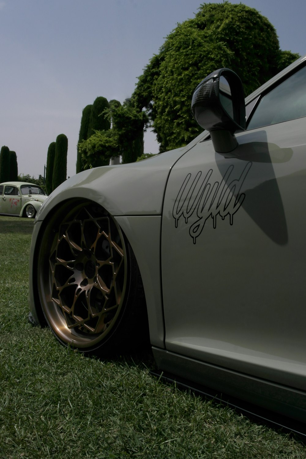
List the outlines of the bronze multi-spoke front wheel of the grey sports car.
<svg viewBox="0 0 306 459">
<path fill-rule="evenodd" d="M 87 202 L 67 209 L 50 220 L 40 245 L 38 289 L 45 318 L 65 345 L 116 352 L 133 328 L 133 252 L 102 207 Z"/>
</svg>

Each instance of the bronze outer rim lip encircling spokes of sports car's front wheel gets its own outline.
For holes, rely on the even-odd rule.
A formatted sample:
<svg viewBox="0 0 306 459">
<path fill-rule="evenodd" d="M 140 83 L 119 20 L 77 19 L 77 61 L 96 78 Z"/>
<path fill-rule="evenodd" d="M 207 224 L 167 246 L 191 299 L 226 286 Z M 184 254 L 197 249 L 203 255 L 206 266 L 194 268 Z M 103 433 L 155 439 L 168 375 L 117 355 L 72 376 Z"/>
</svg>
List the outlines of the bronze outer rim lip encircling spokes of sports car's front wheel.
<svg viewBox="0 0 306 459">
<path fill-rule="evenodd" d="M 121 242 L 122 242 L 122 250 L 123 250 L 123 269 L 124 269 L 124 280 L 123 280 L 123 286 L 122 286 L 122 295 L 121 295 L 121 301 L 118 305 L 117 311 L 113 319 L 111 320 L 110 326 L 101 334 L 99 335 L 94 335 L 94 334 L 89 334 L 89 335 L 82 335 L 80 336 L 76 331 L 72 328 L 69 329 L 67 326 L 67 322 L 60 312 L 59 308 L 56 308 L 55 303 L 51 300 L 51 294 L 50 294 L 50 288 L 49 288 L 49 293 L 48 295 L 45 295 L 45 290 L 44 290 L 44 275 L 45 271 L 44 269 L 39 269 L 40 267 L 44 266 L 44 263 L 47 263 L 49 266 L 49 255 L 48 251 L 46 250 L 47 248 L 47 241 L 50 239 L 51 233 L 53 233 L 53 238 L 55 238 L 55 231 L 53 230 L 54 224 L 56 224 L 56 220 L 59 218 L 61 219 L 61 216 L 64 217 L 64 219 L 72 217 L 72 215 L 76 215 L 82 207 L 90 205 L 95 205 L 98 207 L 101 207 L 100 204 L 97 204 L 92 201 L 87 201 L 83 202 L 77 206 L 75 206 L 71 210 L 71 203 L 67 203 L 66 206 L 63 206 L 61 209 L 58 210 L 53 216 L 51 216 L 50 220 L 45 222 L 45 230 L 43 231 L 43 234 L 40 239 L 40 244 L 39 244 L 39 252 L 38 252 L 38 263 L 37 263 L 37 287 L 38 287 L 38 294 L 39 294 L 39 301 L 41 304 L 42 311 L 44 313 L 45 319 L 47 321 L 47 324 L 49 325 L 50 329 L 52 330 L 53 334 L 56 336 L 56 338 L 65 346 L 71 346 L 77 348 L 81 352 L 92 352 L 94 351 L 97 347 L 100 347 L 101 342 L 106 342 L 107 339 L 112 335 L 112 333 L 116 330 L 117 326 L 119 325 L 121 321 L 121 313 L 122 313 L 122 307 L 124 306 L 124 303 L 126 301 L 126 290 L 127 290 L 127 279 L 128 279 L 128 251 L 127 247 L 124 241 L 124 236 L 122 234 L 122 231 L 120 229 L 120 226 L 117 224 L 115 218 L 111 216 L 111 214 L 107 213 L 103 207 L 101 207 L 102 211 L 106 212 L 106 215 L 111 218 L 113 223 L 116 226 L 116 229 L 119 233 Z M 65 212 L 66 210 L 66 212 Z M 70 212 L 69 212 L 70 210 Z M 58 218 L 58 215 L 60 217 Z M 66 218 L 65 218 L 66 217 Z M 63 223 L 64 219 L 61 219 L 60 224 Z M 52 242 L 52 246 L 54 245 L 54 239 Z M 51 253 L 50 251 L 49 253 Z M 50 281 L 50 275 L 49 275 L 49 283 Z M 50 287 L 50 284 L 49 284 Z M 51 313 L 50 313 L 51 311 Z M 53 319 L 52 319 L 53 317 Z M 56 320 L 54 319 L 56 317 L 58 319 L 58 323 L 56 323 Z"/>
</svg>

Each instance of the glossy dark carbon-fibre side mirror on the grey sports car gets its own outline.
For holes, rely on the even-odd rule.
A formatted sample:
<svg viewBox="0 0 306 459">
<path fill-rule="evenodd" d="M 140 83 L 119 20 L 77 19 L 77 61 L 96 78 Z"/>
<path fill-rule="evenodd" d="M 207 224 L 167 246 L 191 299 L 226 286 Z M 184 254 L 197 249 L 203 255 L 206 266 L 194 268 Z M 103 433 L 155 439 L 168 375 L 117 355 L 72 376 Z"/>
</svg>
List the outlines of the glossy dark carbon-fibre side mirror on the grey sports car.
<svg viewBox="0 0 306 459">
<path fill-rule="evenodd" d="M 245 96 L 239 76 L 229 68 L 210 73 L 192 96 L 191 112 L 211 134 L 215 151 L 228 153 L 238 142 L 235 131 L 245 130 Z"/>
</svg>

